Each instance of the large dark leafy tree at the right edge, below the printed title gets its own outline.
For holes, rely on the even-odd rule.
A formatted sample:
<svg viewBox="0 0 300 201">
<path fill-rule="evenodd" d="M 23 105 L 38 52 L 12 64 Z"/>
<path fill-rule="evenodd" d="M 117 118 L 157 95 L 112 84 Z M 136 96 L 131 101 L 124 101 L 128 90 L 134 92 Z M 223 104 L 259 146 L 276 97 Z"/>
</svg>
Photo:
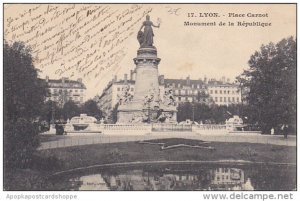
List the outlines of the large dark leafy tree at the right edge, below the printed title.
<svg viewBox="0 0 300 201">
<path fill-rule="evenodd" d="M 249 60 L 245 85 L 249 86 L 251 119 L 263 132 L 281 124 L 296 124 L 296 41 L 290 37 L 276 45 L 262 45 Z"/>
</svg>

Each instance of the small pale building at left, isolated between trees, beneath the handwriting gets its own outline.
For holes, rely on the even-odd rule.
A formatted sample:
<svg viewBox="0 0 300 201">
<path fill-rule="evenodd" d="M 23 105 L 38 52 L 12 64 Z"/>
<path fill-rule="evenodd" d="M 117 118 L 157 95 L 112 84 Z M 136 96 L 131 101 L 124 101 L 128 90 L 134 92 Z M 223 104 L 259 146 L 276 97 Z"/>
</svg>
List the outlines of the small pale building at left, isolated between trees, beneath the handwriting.
<svg viewBox="0 0 300 201">
<path fill-rule="evenodd" d="M 75 81 L 63 77 L 55 80 L 49 79 L 47 76 L 46 82 L 49 89 L 49 95 L 46 98 L 46 101 L 55 101 L 61 107 L 70 100 L 78 105 L 84 103 L 86 87 L 82 83 L 82 79 Z"/>
</svg>

